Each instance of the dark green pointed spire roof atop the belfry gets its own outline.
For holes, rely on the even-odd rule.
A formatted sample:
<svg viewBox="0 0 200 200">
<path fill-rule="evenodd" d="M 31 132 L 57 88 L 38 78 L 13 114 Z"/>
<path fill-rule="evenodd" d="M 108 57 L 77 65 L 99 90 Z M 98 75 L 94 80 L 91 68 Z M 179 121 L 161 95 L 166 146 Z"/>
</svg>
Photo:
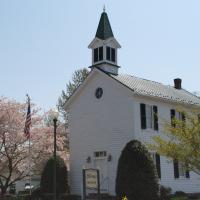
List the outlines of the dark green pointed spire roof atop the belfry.
<svg viewBox="0 0 200 200">
<path fill-rule="evenodd" d="M 96 32 L 96 37 L 102 40 L 106 40 L 110 37 L 114 37 L 108 15 L 106 12 L 101 14 L 99 25 Z"/>
</svg>

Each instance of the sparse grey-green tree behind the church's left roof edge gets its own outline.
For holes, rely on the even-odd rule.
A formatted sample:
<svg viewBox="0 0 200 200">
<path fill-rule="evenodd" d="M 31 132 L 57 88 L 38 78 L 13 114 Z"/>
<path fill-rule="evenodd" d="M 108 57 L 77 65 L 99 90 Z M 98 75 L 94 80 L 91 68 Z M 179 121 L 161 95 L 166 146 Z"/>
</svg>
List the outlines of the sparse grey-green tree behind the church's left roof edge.
<svg viewBox="0 0 200 200">
<path fill-rule="evenodd" d="M 58 99 L 58 110 L 62 114 L 66 125 L 68 124 L 68 115 L 67 111 L 64 109 L 65 102 L 69 99 L 69 97 L 74 93 L 74 91 L 83 83 L 89 71 L 87 68 L 76 70 L 72 74 L 72 80 L 66 84 L 66 90 L 62 91 L 61 96 Z"/>
</svg>

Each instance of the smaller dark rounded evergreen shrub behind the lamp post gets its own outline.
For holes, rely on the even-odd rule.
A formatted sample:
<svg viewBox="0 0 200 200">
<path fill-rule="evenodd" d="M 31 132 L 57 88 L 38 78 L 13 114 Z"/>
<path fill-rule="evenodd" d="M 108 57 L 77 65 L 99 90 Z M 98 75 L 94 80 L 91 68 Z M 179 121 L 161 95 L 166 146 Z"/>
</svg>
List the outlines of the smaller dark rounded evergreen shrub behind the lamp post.
<svg viewBox="0 0 200 200">
<path fill-rule="evenodd" d="M 51 157 L 42 172 L 40 187 L 42 194 L 53 193 L 54 187 L 54 158 Z M 69 191 L 67 167 L 62 158 L 56 157 L 56 192 L 57 194 Z"/>
</svg>

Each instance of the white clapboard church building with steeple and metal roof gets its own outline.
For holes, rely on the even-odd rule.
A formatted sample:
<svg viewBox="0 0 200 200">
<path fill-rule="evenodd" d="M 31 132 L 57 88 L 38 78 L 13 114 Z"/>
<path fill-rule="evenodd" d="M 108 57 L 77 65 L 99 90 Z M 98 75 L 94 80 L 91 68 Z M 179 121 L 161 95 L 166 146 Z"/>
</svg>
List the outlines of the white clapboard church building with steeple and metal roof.
<svg viewBox="0 0 200 200">
<path fill-rule="evenodd" d="M 120 74 L 120 47 L 104 11 L 89 44 L 91 72 L 65 105 L 69 112 L 73 194 L 82 194 L 82 169 L 98 168 L 101 192 L 115 195 L 118 159 L 125 145 L 133 139 L 150 143 L 153 136 L 162 135 L 163 119 L 170 122 L 177 116 L 177 106 L 200 106 L 200 99 L 183 89 L 179 78 L 169 86 Z M 173 192 L 200 192 L 200 176 L 156 153 L 153 158 L 161 185 Z"/>
</svg>

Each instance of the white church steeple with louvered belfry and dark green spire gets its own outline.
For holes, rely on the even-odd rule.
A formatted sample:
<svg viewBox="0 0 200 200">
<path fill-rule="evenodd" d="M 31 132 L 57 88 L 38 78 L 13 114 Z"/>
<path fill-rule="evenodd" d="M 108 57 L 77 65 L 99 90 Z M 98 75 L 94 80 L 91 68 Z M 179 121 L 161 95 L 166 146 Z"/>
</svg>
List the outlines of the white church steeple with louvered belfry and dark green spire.
<svg viewBox="0 0 200 200">
<path fill-rule="evenodd" d="M 88 48 L 92 49 L 91 69 L 97 67 L 106 73 L 118 74 L 117 49 L 121 46 L 113 35 L 105 7 L 100 17 L 95 38 Z"/>
</svg>

